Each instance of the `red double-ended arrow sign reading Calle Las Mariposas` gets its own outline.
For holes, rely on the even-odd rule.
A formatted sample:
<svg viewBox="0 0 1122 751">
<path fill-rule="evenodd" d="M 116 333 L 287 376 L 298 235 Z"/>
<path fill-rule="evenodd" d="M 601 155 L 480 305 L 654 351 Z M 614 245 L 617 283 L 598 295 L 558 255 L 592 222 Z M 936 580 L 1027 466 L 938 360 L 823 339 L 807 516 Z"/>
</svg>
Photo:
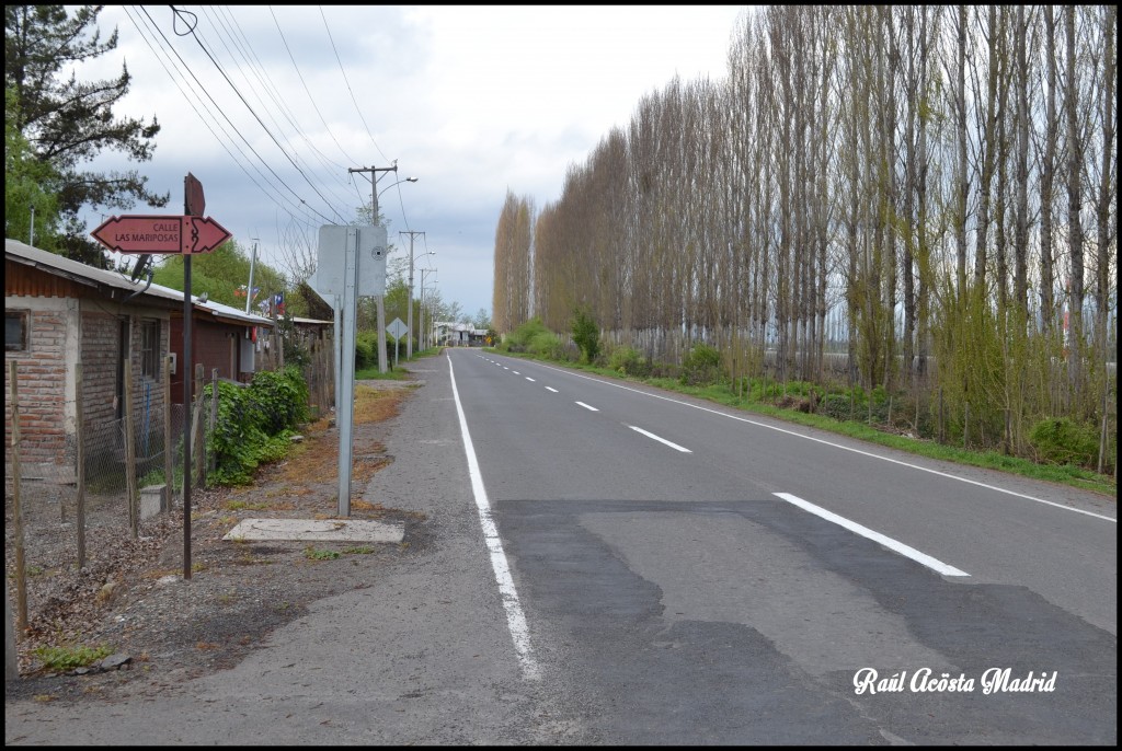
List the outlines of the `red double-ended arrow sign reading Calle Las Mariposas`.
<svg viewBox="0 0 1122 751">
<path fill-rule="evenodd" d="M 230 239 L 210 216 L 110 216 L 91 233 L 119 253 L 209 253 Z"/>
</svg>

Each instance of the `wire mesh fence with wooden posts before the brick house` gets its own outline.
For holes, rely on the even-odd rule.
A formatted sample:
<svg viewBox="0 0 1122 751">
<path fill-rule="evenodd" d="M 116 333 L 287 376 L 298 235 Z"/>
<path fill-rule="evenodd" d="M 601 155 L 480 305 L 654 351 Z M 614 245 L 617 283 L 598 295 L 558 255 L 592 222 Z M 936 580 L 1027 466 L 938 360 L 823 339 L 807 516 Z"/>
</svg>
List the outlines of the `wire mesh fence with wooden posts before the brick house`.
<svg viewBox="0 0 1122 751">
<path fill-rule="evenodd" d="M 18 363 L 9 361 L 4 564 L 21 628 L 49 613 L 64 591 L 72 596 L 104 585 L 122 550 L 142 548 L 158 536 L 156 527 L 166 530 L 172 510 L 182 507 L 185 439 L 192 442 L 192 484 L 205 485 L 204 437 L 218 415 L 210 397 L 217 389 L 202 388 L 201 368 L 196 377 L 190 407 L 166 405 L 165 383 L 156 398 L 147 389 L 125 399 L 120 417 L 85 418 L 81 397 L 45 401 L 30 389 L 21 396 Z"/>
</svg>

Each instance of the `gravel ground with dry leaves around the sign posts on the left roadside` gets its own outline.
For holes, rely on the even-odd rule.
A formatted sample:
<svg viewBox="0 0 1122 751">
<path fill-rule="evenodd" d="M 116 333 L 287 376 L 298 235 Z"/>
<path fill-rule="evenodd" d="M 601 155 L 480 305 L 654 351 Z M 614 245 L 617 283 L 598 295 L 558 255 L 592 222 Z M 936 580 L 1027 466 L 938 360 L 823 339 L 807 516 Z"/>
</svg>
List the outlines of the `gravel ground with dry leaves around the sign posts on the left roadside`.
<svg viewBox="0 0 1122 751">
<path fill-rule="evenodd" d="M 19 680 L 7 682 L 9 698 L 75 701 L 96 694 L 111 699 L 136 690 L 139 679 L 167 687 L 238 664 L 274 629 L 307 612 L 314 601 L 342 587 L 369 586 L 384 565 L 422 554 L 430 543 L 424 514 L 364 502 L 367 480 L 387 466 L 386 420 L 413 389 L 407 383 L 364 381 L 377 390 L 377 408 L 356 412 L 352 519 L 377 519 L 405 528 L 401 544 L 341 545 L 222 540 L 246 518 L 332 518 L 338 511 L 338 432 L 327 419 L 306 426 L 295 457 L 263 467 L 242 488 L 192 491 L 190 580 L 183 577 L 182 502 L 141 522 L 132 538 L 122 521 L 121 498 L 91 498 L 86 512 L 88 565 L 77 571 L 76 526 L 59 522 L 57 504 L 22 510 L 28 628 L 18 634 Z M 15 525 L 6 500 L 4 554 L 16 609 Z M 73 519 L 73 514 L 70 517 Z M 338 557 L 331 557 L 338 556 Z M 340 569 L 347 575 L 340 576 Z M 108 648 L 101 670 L 52 671 L 40 647 Z"/>
</svg>

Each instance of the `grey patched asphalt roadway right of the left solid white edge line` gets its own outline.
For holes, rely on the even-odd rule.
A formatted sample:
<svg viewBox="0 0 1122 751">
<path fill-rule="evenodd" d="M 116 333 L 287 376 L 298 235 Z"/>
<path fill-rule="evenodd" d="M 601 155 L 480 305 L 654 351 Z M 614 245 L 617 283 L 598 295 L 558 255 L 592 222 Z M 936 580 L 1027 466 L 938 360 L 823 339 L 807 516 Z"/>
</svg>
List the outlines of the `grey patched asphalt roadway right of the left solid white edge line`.
<svg viewBox="0 0 1122 751">
<path fill-rule="evenodd" d="M 448 361 L 523 673 L 583 686 L 601 742 L 1116 742 L 1113 501 Z"/>
</svg>

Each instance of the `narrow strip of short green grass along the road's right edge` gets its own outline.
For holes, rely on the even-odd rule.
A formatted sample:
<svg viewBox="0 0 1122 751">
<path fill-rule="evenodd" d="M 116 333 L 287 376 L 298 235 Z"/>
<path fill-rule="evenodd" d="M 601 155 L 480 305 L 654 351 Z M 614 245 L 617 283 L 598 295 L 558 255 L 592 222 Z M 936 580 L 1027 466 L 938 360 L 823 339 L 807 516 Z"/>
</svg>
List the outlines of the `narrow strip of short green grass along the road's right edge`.
<svg viewBox="0 0 1122 751">
<path fill-rule="evenodd" d="M 839 421 L 831 417 L 804 414 L 794 409 L 782 409 L 780 407 L 775 407 L 769 404 L 749 402 L 745 399 L 737 398 L 735 393 L 729 392 L 727 386 L 707 386 L 707 387 L 684 386 L 677 379 L 671 379 L 671 378 L 634 378 L 629 376 L 622 376 L 617 371 L 610 370 L 608 368 L 596 368 L 594 365 L 585 365 L 571 362 L 560 363 L 553 360 L 543 360 L 542 358 L 534 358 L 533 355 L 524 353 L 498 352 L 496 350 L 489 350 L 489 351 L 495 352 L 496 354 L 503 354 L 511 358 L 521 358 L 523 360 L 539 360 L 542 362 L 549 362 L 549 364 L 551 365 L 595 373 L 597 376 L 604 378 L 610 378 L 616 381 L 653 386 L 668 391 L 675 391 L 678 393 L 683 393 L 687 396 L 697 397 L 699 399 L 705 399 L 707 401 L 711 401 L 715 404 L 724 405 L 726 407 L 732 407 L 733 409 L 737 409 L 748 414 L 764 415 L 767 417 L 773 417 L 775 419 L 784 420 L 787 423 L 806 425 L 809 427 L 818 428 L 820 430 L 826 430 L 828 433 L 845 435 L 852 438 L 866 441 L 868 443 L 874 443 L 881 446 L 888 446 L 890 448 L 895 448 L 898 451 L 908 452 L 917 456 L 927 456 L 929 458 L 954 462 L 956 464 L 978 466 L 987 470 L 997 470 L 1001 472 L 1008 472 L 1010 474 L 1021 475 L 1023 478 L 1031 478 L 1033 480 L 1043 480 L 1047 482 L 1055 482 L 1063 485 L 1069 485 L 1072 488 L 1078 488 L 1079 490 L 1087 490 L 1094 493 L 1109 495 L 1111 498 L 1118 497 L 1118 481 L 1115 478 L 1112 478 L 1110 475 L 1097 474 L 1095 472 L 1083 470 L 1077 466 L 1072 466 L 1072 465 L 1057 466 L 1048 464 L 1037 464 L 1034 462 L 1030 462 L 1029 460 L 1019 458 L 1015 456 L 1005 456 L 1004 454 L 993 451 L 972 452 L 972 451 L 966 451 L 964 448 L 957 448 L 954 446 L 938 444 L 934 441 L 910 438 L 908 436 L 886 433 L 884 430 L 879 430 L 874 426 L 870 426 L 864 423 L 857 423 L 853 420 Z"/>
</svg>

